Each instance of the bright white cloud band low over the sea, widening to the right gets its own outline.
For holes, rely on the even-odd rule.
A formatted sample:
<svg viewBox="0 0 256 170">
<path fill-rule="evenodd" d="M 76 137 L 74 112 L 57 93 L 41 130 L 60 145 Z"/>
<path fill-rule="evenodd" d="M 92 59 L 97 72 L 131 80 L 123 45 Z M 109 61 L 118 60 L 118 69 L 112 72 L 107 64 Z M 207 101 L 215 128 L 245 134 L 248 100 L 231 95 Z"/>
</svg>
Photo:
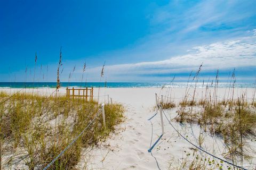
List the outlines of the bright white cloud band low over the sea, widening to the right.
<svg viewBox="0 0 256 170">
<path fill-rule="evenodd" d="M 174 56 L 167 60 L 155 62 L 140 62 L 130 64 L 107 65 L 106 75 L 115 81 L 131 77 L 146 81 L 147 75 L 182 74 L 198 69 L 203 63 L 203 71 L 234 69 L 234 67 L 256 66 L 255 36 L 243 37 L 237 40 L 217 42 L 197 46 L 186 55 Z M 99 74 L 100 67 L 88 70 L 90 79 Z M 95 80 L 94 80 L 95 81 Z M 137 80 L 138 81 L 138 80 Z"/>
</svg>

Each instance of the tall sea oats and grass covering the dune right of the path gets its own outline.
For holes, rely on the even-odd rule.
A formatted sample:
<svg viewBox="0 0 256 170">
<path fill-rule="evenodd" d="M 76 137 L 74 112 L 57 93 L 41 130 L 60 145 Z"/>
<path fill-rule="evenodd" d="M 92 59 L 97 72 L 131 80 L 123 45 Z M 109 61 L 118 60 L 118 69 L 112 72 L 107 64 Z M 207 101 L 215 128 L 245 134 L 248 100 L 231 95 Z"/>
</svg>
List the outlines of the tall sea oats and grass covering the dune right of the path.
<svg viewBox="0 0 256 170">
<path fill-rule="evenodd" d="M 201 71 L 201 66 L 193 79 L 191 79 L 192 75 L 190 74 L 185 94 L 181 101 L 178 102 L 176 100 L 176 103 L 178 103 L 176 113 L 178 114 L 173 120 L 181 125 L 197 124 L 201 129 L 200 131 L 204 131 L 210 136 L 215 135 L 215 137 L 218 137 L 223 141 L 223 147 L 225 148 L 222 156 L 231 163 L 243 165 L 244 159 L 250 162 L 253 158 L 252 156 L 255 155 L 255 150 L 252 148 L 256 137 L 256 87 L 253 88 L 253 94 L 247 94 L 247 89 L 241 89 L 240 95 L 237 94 L 235 96 L 236 78 L 233 71 L 228 80 L 229 87 L 226 87 L 223 94 L 218 94 L 219 71 L 217 70 L 215 79 L 208 83 L 203 81 L 202 87 L 204 88 L 198 90 L 199 71 Z M 189 82 L 193 85 L 189 85 Z M 209 87 L 213 88 L 210 89 Z M 170 94 L 163 95 L 169 96 Z M 252 95 L 252 98 L 249 95 Z M 166 98 L 162 100 L 164 101 Z M 167 107 L 162 108 L 170 109 Z M 201 132 L 197 141 L 195 144 L 202 147 L 204 137 Z M 198 159 L 191 161 L 191 159 L 182 158 L 182 161 L 175 163 L 175 165 L 178 165 L 175 167 L 177 169 L 211 169 L 211 166 L 205 166 L 205 162 Z M 214 168 L 222 169 L 222 167 L 218 166 Z M 236 168 L 232 166 L 229 169 Z"/>
</svg>

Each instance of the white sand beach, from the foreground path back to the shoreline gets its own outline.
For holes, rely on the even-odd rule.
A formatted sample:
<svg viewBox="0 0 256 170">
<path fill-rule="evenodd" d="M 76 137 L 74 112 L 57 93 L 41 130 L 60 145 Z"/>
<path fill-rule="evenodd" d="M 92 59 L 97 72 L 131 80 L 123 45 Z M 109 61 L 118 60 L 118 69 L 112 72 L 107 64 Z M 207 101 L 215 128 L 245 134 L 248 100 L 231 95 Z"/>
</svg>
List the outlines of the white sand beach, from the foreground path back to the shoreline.
<svg viewBox="0 0 256 170">
<path fill-rule="evenodd" d="M 20 91 L 21 89 L 0 89 L 6 92 Z M 32 89 L 26 89 L 27 92 L 31 92 Z M 55 89 L 38 88 L 34 91 L 42 95 L 50 95 Z M 156 111 L 154 106 L 156 105 L 155 93 L 159 96 L 169 94 L 172 101 L 176 104 L 181 101 L 181 98 L 185 94 L 185 88 L 173 88 L 171 89 L 161 88 L 101 88 L 100 89 L 100 102 L 107 103 L 109 98 L 113 99 L 113 102 L 121 103 L 125 106 L 125 121 L 117 127 L 115 133 L 110 135 L 106 141 L 103 141 L 98 147 L 94 147 L 90 151 L 85 151 L 82 162 L 77 165 L 77 168 L 84 168 L 85 162 L 89 169 L 177 169 L 177 165 L 181 164 L 184 160 L 191 162 L 198 155 L 199 158 L 215 160 L 216 163 L 223 164 L 222 168 L 227 169 L 228 164 L 220 162 L 209 155 L 206 155 L 202 151 L 198 151 L 189 142 L 181 138 L 177 132 L 174 131 L 172 126 L 167 122 L 164 117 L 164 134 L 162 139 L 152 150 L 152 154 L 148 152 L 148 149 L 161 135 L 161 119 L 157 114 L 152 118 L 153 124 L 153 138 L 151 141 L 152 126 L 148 118 L 150 118 Z M 202 91 L 205 89 L 199 88 L 196 90 L 196 99 L 200 99 Z M 210 89 L 213 90 L 213 89 Z M 24 91 L 21 90 L 20 92 Z M 226 91 L 226 92 L 225 92 Z M 218 96 L 221 99 L 227 94 L 228 89 L 219 88 Z M 61 88 L 59 94 L 65 95 L 65 88 Z M 169 92 L 169 93 L 168 93 Z M 193 95 L 191 89 L 190 94 Z M 241 96 L 242 92 L 246 92 L 247 99 L 251 99 L 253 95 L 252 88 L 236 88 L 234 89 L 234 98 Z M 94 88 L 94 96 L 97 99 L 98 88 Z M 109 99 L 110 100 L 110 99 Z M 176 111 L 178 107 L 164 111 L 167 117 L 173 118 L 177 115 Z M 223 140 L 215 135 L 207 134 L 203 132 L 196 124 L 183 124 L 172 121 L 177 130 L 186 136 L 186 138 L 198 145 L 199 134 L 204 134 L 204 142 L 202 148 L 211 154 L 223 158 L 225 152 L 225 145 Z M 255 146 L 255 138 L 246 141 L 246 145 L 250 144 Z M 253 151 L 254 150 L 254 151 Z M 252 167 L 256 164 L 255 149 L 251 148 L 250 154 L 252 159 L 249 161 L 244 160 L 244 167 Z M 193 156 L 194 155 L 194 156 Z M 155 157 L 155 158 L 154 158 Z M 229 160 L 230 161 L 230 160 Z M 236 162 L 240 165 L 240 162 Z"/>
</svg>

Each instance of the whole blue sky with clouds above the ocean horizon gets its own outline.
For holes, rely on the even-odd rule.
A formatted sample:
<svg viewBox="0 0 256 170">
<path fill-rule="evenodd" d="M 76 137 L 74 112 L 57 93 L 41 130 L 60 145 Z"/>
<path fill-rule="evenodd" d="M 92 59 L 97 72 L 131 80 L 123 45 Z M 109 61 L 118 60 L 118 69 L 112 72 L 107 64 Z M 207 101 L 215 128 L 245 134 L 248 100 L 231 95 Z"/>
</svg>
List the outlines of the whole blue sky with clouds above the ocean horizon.
<svg viewBox="0 0 256 170">
<path fill-rule="evenodd" d="M 256 1 L 0 1 L 0 81 L 256 79 Z M 41 69 L 42 65 L 42 69 Z M 76 66 L 68 80 L 69 73 Z M 25 73 L 27 67 L 27 73 Z M 46 69 L 48 67 L 48 70 Z M 62 70 L 61 68 L 61 70 Z"/>
</svg>

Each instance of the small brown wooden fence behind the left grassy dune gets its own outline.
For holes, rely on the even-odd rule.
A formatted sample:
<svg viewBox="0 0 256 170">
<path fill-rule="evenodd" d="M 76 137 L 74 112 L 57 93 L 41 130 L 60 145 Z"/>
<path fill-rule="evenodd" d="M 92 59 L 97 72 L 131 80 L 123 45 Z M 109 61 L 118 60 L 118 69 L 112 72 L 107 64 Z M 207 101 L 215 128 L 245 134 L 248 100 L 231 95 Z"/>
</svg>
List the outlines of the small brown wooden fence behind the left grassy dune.
<svg viewBox="0 0 256 170">
<path fill-rule="evenodd" d="M 71 94 L 70 94 L 70 91 Z M 75 89 L 74 87 L 69 89 L 66 88 L 66 96 L 67 97 L 72 97 L 74 98 L 81 98 L 81 99 L 85 99 L 85 101 L 92 101 L 93 100 L 93 87 L 92 88 L 79 88 L 79 89 Z"/>
</svg>

